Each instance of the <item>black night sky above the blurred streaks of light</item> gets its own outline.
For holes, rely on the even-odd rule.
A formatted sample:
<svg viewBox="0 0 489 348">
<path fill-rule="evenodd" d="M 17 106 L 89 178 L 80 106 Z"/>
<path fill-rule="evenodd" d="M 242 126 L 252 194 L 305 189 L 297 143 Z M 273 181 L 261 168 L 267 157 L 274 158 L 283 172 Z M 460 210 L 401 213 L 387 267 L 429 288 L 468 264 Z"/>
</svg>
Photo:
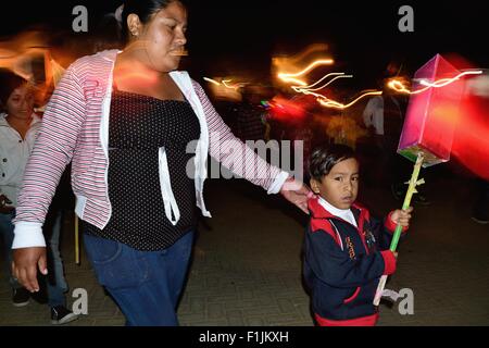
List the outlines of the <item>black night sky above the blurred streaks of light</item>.
<svg viewBox="0 0 489 348">
<path fill-rule="evenodd" d="M 114 11 L 121 1 L 16 1 L 9 4 L 1 35 L 35 23 L 70 33 L 72 9 L 88 9 L 88 26 Z M 51 3 L 52 5 L 49 5 Z M 235 70 L 269 71 L 273 54 L 293 55 L 306 46 L 325 42 L 337 66 L 369 84 L 390 60 L 408 74 L 436 53 L 456 52 L 487 67 L 487 1 L 187 1 L 189 8 L 187 65 L 200 75 Z M 398 10 L 414 9 L 414 33 L 401 33 Z M 5 2 L 2 3 L 5 7 Z M 3 12 L 3 11 L 2 11 Z M 7 13 L 7 12 L 3 12 Z M 84 34 L 71 33 L 84 40 Z M 362 86 L 363 87 L 363 86 Z"/>
</svg>

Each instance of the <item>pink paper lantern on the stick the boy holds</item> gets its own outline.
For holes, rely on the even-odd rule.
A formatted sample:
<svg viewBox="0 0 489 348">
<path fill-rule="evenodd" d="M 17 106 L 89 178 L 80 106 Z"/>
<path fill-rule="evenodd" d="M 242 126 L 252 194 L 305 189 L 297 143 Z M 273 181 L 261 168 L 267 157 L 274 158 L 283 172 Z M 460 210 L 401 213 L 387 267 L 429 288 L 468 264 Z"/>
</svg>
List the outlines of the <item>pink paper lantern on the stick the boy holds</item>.
<svg viewBox="0 0 489 348">
<path fill-rule="evenodd" d="M 415 162 L 423 152 L 425 167 L 450 160 L 464 89 L 463 79 L 450 79 L 459 74 L 440 54 L 416 72 L 398 153 Z"/>
</svg>

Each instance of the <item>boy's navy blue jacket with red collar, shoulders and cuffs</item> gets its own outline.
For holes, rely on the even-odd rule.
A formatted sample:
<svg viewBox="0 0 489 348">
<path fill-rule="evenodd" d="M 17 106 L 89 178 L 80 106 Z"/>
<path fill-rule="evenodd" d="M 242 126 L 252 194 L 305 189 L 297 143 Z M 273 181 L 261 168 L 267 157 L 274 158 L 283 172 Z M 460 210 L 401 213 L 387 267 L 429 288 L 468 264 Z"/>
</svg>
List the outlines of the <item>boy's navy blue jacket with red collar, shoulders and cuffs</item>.
<svg viewBox="0 0 489 348">
<path fill-rule="evenodd" d="M 367 209 L 353 204 L 359 227 L 333 215 L 317 198 L 309 200 L 310 223 L 304 240 L 304 281 L 319 325 L 374 325 L 373 304 L 383 274 L 396 271 L 388 250 L 396 224 L 383 225 Z"/>
</svg>

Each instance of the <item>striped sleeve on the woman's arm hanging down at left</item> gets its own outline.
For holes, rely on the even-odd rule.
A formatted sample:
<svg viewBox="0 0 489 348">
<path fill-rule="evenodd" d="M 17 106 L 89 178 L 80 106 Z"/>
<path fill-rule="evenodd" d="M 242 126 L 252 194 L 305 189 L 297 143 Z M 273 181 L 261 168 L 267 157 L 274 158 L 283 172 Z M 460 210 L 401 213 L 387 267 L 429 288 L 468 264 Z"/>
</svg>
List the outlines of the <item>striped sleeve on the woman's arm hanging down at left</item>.
<svg viewBox="0 0 489 348">
<path fill-rule="evenodd" d="M 72 160 L 84 120 L 85 97 L 72 65 L 60 80 L 42 116 L 25 169 L 14 223 L 43 223 L 60 177 Z"/>
</svg>

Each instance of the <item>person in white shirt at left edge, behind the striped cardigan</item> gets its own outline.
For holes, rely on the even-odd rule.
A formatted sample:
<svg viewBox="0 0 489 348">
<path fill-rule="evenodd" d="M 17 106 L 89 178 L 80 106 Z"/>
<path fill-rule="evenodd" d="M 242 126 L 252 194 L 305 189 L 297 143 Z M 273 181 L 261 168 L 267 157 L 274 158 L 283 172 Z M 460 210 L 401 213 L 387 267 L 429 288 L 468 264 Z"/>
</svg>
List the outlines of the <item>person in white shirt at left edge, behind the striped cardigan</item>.
<svg viewBox="0 0 489 348">
<path fill-rule="evenodd" d="M 4 111 L 0 114 L 0 233 L 7 249 L 7 264 L 10 269 L 11 247 L 14 239 L 12 221 L 15 217 L 17 195 L 41 120 L 34 113 L 32 85 L 8 70 L 0 70 L 0 105 Z M 61 214 L 51 209 L 50 217 L 45 225 L 45 234 L 48 237 L 49 253 L 53 265 L 53 276 L 47 282 L 48 306 L 53 324 L 65 324 L 77 319 L 77 315 L 66 308 L 64 293 L 67 291 L 67 284 L 59 249 L 60 231 Z M 10 284 L 13 293 L 13 306 L 28 304 L 30 293 L 13 276 L 10 278 Z"/>
</svg>

